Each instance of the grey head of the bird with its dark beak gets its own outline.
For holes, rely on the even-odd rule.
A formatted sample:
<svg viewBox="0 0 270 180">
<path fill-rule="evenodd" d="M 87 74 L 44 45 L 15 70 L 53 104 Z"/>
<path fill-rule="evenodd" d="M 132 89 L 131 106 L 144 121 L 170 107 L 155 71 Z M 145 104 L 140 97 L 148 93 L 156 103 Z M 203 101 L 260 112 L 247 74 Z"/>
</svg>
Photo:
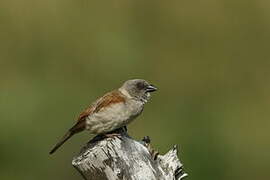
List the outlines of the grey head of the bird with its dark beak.
<svg viewBox="0 0 270 180">
<path fill-rule="evenodd" d="M 131 98 L 145 103 L 150 98 L 150 92 L 156 91 L 157 88 L 149 84 L 146 80 L 131 79 L 126 81 L 119 90 Z"/>
</svg>

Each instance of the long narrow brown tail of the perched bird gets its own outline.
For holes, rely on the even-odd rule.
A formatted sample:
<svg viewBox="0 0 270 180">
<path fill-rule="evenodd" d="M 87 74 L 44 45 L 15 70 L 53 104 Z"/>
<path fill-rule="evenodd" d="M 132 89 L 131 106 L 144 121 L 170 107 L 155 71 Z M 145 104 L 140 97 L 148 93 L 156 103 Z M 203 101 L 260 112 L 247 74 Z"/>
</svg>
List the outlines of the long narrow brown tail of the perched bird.
<svg viewBox="0 0 270 180">
<path fill-rule="evenodd" d="M 77 122 L 68 132 L 62 137 L 62 139 L 53 147 L 50 154 L 53 154 L 60 146 L 62 146 L 69 138 L 74 134 L 81 132 L 85 129 L 85 120 Z"/>
</svg>

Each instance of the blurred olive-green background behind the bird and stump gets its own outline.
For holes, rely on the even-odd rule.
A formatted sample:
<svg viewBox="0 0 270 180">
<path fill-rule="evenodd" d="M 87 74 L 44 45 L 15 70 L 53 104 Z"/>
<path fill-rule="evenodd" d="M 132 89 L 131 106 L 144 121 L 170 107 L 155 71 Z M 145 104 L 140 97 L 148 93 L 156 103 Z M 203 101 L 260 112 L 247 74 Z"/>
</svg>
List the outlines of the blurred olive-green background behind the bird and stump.
<svg viewBox="0 0 270 180">
<path fill-rule="evenodd" d="M 270 1 L 1 0 L 0 179 L 82 179 L 90 137 L 50 148 L 131 78 L 159 87 L 129 126 L 188 179 L 269 179 Z"/>
</svg>

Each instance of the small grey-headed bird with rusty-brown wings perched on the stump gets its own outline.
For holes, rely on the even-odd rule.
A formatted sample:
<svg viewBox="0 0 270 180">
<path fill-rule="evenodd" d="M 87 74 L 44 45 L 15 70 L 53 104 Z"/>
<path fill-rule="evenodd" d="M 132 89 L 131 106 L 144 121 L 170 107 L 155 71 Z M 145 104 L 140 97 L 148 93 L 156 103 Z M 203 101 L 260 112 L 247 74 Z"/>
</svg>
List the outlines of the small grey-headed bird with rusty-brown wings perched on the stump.
<svg viewBox="0 0 270 180">
<path fill-rule="evenodd" d="M 85 109 L 79 115 L 77 123 L 54 146 L 50 154 L 74 134 L 83 130 L 88 130 L 90 134 L 106 135 L 126 126 L 141 114 L 144 104 L 150 98 L 150 92 L 156 90 L 154 85 L 143 79 L 124 82 L 119 89 L 105 94 Z"/>
</svg>

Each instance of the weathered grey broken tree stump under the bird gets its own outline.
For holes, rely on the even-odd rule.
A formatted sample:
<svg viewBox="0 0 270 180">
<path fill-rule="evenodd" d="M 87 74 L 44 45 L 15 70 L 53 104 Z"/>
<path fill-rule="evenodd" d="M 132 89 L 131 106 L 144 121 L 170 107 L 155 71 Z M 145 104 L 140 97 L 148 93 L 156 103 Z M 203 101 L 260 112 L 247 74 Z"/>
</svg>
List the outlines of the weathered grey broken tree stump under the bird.
<svg viewBox="0 0 270 180">
<path fill-rule="evenodd" d="M 73 158 L 72 165 L 85 180 L 181 180 L 187 176 L 174 146 L 159 155 L 150 139 L 136 141 L 125 130 L 120 136 L 97 136 Z"/>
</svg>

